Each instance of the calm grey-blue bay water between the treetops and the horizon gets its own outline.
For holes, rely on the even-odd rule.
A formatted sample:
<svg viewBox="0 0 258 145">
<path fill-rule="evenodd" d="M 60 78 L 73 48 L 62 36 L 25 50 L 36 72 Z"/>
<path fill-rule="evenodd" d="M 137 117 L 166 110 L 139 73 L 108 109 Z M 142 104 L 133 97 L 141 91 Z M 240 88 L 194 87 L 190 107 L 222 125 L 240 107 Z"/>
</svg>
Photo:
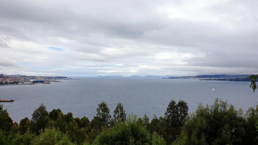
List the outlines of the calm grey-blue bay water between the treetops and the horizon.
<svg viewBox="0 0 258 145">
<path fill-rule="evenodd" d="M 237 109 L 247 110 L 256 106 L 258 101 L 258 93 L 253 93 L 249 84 L 191 79 L 84 77 L 52 82 L 51 85 L 0 86 L 0 98 L 15 100 L 1 104 L 16 122 L 24 117 L 31 118 L 40 103 L 44 103 L 49 112 L 60 108 L 64 113 L 72 112 L 74 117 L 86 116 L 91 120 L 101 101 L 108 104 L 111 115 L 120 102 L 126 113 L 133 112 L 138 117 L 146 113 L 151 120 L 154 114 L 164 116 L 172 99 L 185 100 L 190 113 L 199 103 L 213 104 L 216 97 L 228 100 Z M 214 93 L 211 85 L 217 86 Z"/>
</svg>

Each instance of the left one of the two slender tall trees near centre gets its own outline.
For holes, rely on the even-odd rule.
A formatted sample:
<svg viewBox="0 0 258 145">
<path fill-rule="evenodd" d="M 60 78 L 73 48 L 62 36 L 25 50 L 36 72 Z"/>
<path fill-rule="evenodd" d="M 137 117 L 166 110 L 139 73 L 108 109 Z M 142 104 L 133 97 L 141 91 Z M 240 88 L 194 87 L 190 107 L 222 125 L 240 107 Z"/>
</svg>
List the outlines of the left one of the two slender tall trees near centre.
<svg viewBox="0 0 258 145">
<path fill-rule="evenodd" d="M 110 110 L 109 110 L 106 102 L 102 101 L 101 103 L 99 103 L 99 107 L 97 108 L 96 117 L 100 118 L 100 120 L 102 122 L 102 126 L 109 127 L 110 119 L 111 119 L 111 115 L 109 114 L 109 112 L 110 112 Z"/>
</svg>

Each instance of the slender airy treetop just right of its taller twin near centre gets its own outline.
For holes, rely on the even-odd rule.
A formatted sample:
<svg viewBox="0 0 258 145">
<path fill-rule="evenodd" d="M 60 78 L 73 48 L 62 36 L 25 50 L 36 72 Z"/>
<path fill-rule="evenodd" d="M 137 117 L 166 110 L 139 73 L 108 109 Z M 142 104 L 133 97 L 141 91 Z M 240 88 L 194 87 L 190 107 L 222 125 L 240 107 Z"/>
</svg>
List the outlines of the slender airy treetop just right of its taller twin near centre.
<svg viewBox="0 0 258 145">
<path fill-rule="evenodd" d="M 114 117 L 115 124 L 119 121 L 121 121 L 121 122 L 125 121 L 126 113 L 125 113 L 124 107 L 121 103 L 117 103 L 116 109 L 114 110 L 113 117 Z"/>
</svg>

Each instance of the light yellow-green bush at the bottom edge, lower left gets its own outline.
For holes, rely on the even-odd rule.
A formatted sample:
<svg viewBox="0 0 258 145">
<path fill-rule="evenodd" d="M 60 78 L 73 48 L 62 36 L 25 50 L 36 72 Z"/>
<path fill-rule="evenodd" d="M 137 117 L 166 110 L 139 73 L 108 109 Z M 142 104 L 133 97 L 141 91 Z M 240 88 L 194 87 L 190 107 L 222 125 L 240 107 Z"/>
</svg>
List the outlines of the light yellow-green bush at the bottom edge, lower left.
<svg viewBox="0 0 258 145">
<path fill-rule="evenodd" d="M 36 136 L 31 145 L 73 145 L 68 139 L 66 134 L 55 129 L 45 129 L 40 132 L 39 136 Z"/>
</svg>

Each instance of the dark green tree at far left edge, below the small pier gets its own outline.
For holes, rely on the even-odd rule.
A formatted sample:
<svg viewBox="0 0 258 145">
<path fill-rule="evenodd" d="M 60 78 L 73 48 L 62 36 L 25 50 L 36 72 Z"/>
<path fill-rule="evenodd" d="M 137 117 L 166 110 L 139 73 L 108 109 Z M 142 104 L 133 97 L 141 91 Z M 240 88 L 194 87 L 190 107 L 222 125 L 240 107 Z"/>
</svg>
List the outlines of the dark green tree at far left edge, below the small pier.
<svg viewBox="0 0 258 145">
<path fill-rule="evenodd" d="M 11 129 L 13 120 L 9 117 L 6 109 L 3 109 L 3 105 L 0 104 L 0 129 L 7 132 Z"/>
</svg>

